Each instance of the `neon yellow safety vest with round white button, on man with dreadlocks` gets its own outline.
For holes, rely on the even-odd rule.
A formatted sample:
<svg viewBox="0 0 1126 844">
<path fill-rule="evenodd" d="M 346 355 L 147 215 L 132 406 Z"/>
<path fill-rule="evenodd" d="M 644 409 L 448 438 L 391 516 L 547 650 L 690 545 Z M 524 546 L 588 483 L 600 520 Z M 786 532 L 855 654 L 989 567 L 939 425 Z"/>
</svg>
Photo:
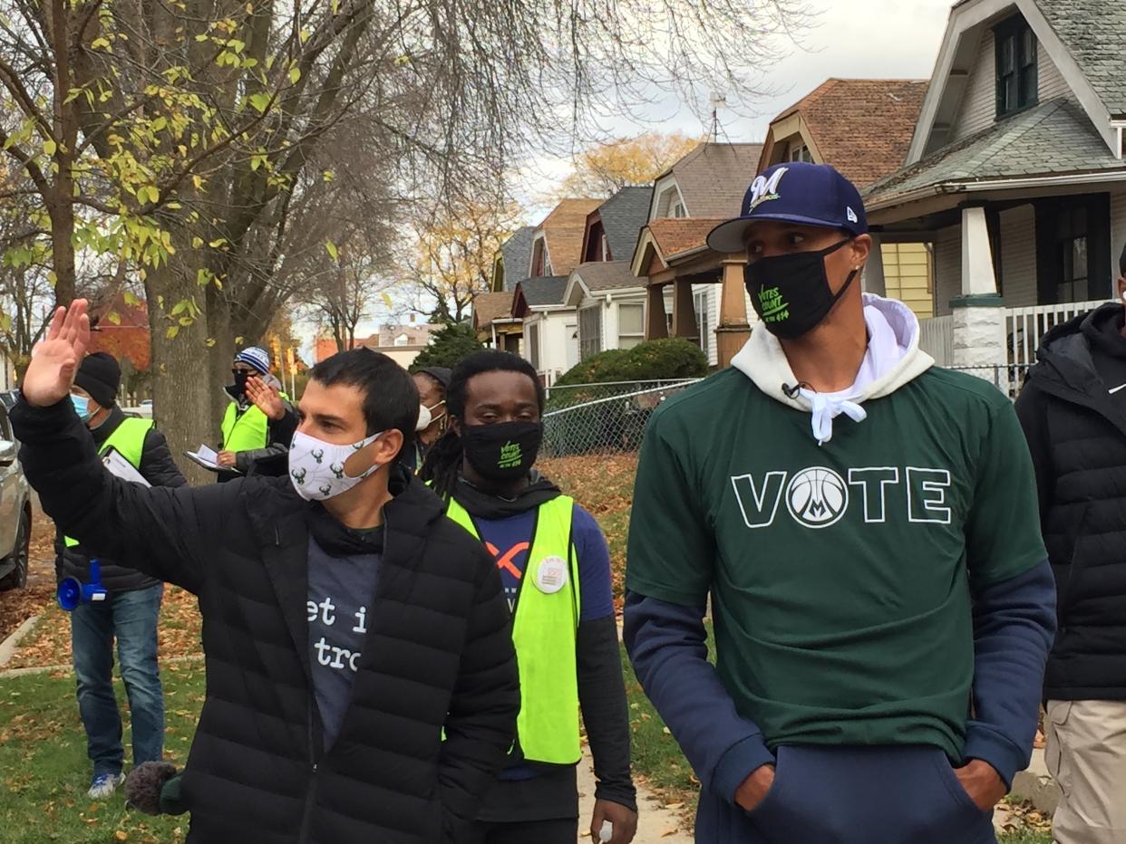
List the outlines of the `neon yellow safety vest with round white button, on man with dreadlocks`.
<svg viewBox="0 0 1126 844">
<path fill-rule="evenodd" d="M 446 514 L 481 541 L 465 508 L 450 500 Z M 565 495 L 539 505 L 512 619 L 520 670 L 520 715 L 516 720 L 520 747 L 525 758 L 556 765 L 573 765 L 582 755 L 575 663 L 580 589 L 579 560 L 571 541 L 573 515 L 574 499 Z"/>
</svg>

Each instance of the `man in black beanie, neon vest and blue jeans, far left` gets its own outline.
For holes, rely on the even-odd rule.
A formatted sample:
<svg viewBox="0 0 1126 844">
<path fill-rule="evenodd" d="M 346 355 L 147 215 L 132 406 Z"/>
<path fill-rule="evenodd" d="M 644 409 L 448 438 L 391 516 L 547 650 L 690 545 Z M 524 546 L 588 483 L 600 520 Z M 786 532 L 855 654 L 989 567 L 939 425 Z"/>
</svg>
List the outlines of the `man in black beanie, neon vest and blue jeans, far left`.
<svg viewBox="0 0 1126 844">
<path fill-rule="evenodd" d="M 116 452 L 152 486 L 187 482 L 168 450 L 164 436 L 146 419 L 131 419 L 117 406 L 122 369 L 106 352 L 87 356 L 71 386 L 71 402 L 99 454 Z M 120 464 L 120 465 L 124 465 Z M 157 625 L 164 584 L 123 566 L 96 547 L 55 536 L 55 574 L 89 583 L 97 558 L 106 600 L 83 603 L 71 613 L 71 644 L 78 708 L 93 763 L 88 796 L 105 800 L 120 784 L 125 752 L 122 715 L 114 693 L 114 639 L 133 722 L 133 762 L 159 761 L 164 754 L 164 694 L 157 663 Z"/>
</svg>

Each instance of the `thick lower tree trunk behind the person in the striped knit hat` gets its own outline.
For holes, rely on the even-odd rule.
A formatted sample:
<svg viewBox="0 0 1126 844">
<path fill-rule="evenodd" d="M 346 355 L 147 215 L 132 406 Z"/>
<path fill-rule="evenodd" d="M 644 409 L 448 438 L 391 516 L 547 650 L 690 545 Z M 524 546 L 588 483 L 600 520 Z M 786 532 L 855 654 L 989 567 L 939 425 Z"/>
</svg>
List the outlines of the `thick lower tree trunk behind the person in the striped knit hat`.
<svg viewBox="0 0 1126 844">
<path fill-rule="evenodd" d="M 187 244 L 178 254 L 187 254 Z M 175 338 L 169 338 L 171 324 L 161 313 L 158 297 L 166 304 L 190 298 L 199 293 L 195 275 L 185 271 L 178 255 L 172 262 L 150 270 L 145 279 L 151 331 L 153 417 L 168 438 L 172 456 L 194 484 L 215 481 L 213 473 L 197 467 L 181 455 L 194 451 L 200 442 L 217 445 L 220 432 L 212 419 L 212 384 L 207 368 L 200 366 L 207 348 L 207 320 L 200 317 L 190 325 L 182 325 Z M 171 307 L 171 304 L 169 304 Z"/>
</svg>

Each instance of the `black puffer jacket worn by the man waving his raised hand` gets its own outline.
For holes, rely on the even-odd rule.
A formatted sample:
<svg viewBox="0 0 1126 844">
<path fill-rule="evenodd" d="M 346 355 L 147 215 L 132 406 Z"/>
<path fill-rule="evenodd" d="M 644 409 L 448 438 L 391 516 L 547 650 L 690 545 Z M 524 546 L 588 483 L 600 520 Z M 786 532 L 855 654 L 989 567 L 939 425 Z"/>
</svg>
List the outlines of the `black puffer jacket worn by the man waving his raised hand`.
<svg viewBox="0 0 1126 844">
<path fill-rule="evenodd" d="M 464 839 L 512 743 L 519 684 L 495 566 L 434 493 L 396 475 L 370 627 L 324 748 L 305 610 L 312 505 L 289 481 L 144 490 L 100 466 L 66 405 L 21 401 L 11 419 L 47 513 L 199 596 L 207 697 L 182 780 L 189 842 Z"/>
</svg>

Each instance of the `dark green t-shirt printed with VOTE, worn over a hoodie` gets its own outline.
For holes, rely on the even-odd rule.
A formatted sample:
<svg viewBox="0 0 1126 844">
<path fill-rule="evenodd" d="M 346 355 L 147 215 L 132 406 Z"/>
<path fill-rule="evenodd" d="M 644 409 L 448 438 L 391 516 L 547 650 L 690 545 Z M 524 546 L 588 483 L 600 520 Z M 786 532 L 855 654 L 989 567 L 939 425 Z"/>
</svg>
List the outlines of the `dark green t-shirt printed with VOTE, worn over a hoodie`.
<svg viewBox="0 0 1126 844">
<path fill-rule="evenodd" d="M 641 454 L 626 587 L 711 591 L 717 671 L 781 744 L 929 744 L 960 758 L 972 590 L 1045 557 L 1008 398 L 932 368 L 868 417 L 810 414 L 729 369 L 667 402 Z"/>
</svg>

